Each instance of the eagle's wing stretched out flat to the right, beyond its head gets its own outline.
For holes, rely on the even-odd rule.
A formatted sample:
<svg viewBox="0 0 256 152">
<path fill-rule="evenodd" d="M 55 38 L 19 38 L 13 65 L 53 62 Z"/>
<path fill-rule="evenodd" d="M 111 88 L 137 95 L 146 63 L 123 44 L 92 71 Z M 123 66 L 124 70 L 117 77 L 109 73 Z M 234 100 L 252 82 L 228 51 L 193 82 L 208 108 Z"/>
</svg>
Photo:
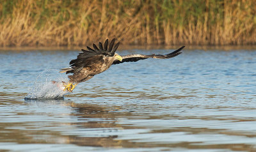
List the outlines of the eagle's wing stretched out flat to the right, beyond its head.
<svg viewBox="0 0 256 152">
<path fill-rule="evenodd" d="M 120 63 L 124 63 L 124 62 L 136 62 L 139 61 L 141 59 L 148 59 L 148 58 L 155 58 L 155 59 L 169 59 L 175 56 L 178 56 L 179 54 L 181 54 L 182 52 L 180 52 L 180 50 L 182 50 L 185 46 L 180 47 L 180 49 L 177 49 L 175 51 L 173 51 L 170 54 L 165 54 L 165 55 L 161 55 L 161 54 L 151 54 L 151 55 L 143 55 L 143 54 L 131 54 L 131 55 L 127 55 L 127 56 L 122 56 L 123 60 L 122 61 L 114 61 L 112 65 L 116 65 L 116 64 L 120 64 Z"/>
</svg>

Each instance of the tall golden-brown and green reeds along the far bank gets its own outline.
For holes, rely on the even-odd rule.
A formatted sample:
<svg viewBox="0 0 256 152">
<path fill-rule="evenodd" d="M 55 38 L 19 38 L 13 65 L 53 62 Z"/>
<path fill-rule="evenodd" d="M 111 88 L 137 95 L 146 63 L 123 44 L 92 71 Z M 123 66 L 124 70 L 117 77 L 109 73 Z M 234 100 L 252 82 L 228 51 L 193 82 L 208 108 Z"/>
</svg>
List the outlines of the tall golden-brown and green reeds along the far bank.
<svg viewBox="0 0 256 152">
<path fill-rule="evenodd" d="M 254 0 L 2 0 L 0 46 L 256 44 Z"/>
</svg>

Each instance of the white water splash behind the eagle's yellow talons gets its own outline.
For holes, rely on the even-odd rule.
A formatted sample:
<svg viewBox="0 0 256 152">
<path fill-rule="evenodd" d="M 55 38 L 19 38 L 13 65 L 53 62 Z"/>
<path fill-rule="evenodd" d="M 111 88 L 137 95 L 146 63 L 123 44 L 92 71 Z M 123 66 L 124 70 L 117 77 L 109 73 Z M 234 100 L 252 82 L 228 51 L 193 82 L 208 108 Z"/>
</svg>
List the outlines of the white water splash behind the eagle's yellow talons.
<svg viewBox="0 0 256 152">
<path fill-rule="evenodd" d="M 57 73 L 56 70 L 46 70 L 42 72 L 36 78 L 34 85 L 29 88 L 29 93 L 25 97 L 26 100 L 51 100 L 51 99 L 61 99 L 64 95 L 67 95 L 68 91 L 63 91 L 62 81 L 68 82 L 65 75 L 52 75 L 52 73 Z M 52 80 L 56 83 L 52 83 Z"/>
</svg>

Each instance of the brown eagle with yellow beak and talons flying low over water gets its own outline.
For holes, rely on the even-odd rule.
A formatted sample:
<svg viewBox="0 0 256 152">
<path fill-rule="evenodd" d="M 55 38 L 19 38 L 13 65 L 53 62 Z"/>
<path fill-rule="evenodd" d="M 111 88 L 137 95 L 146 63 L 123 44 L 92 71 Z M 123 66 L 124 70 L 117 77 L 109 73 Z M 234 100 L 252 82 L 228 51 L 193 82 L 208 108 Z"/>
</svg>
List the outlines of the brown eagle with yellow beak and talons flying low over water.
<svg viewBox="0 0 256 152">
<path fill-rule="evenodd" d="M 77 84 L 84 82 L 86 80 L 90 80 L 94 75 L 102 73 L 111 65 L 116 65 L 125 62 L 136 62 L 141 59 L 155 58 L 155 59 L 169 59 L 175 56 L 178 56 L 182 52 L 185 46 L 180 47 L 179 49 L 165 55 L 161 54 L 151 54 L 151 55 L 143 55 L 143 54 L 129 54 L 127 56 L 119 56 L 116 53 L 120 42 L 116 43 L 115 38 L 111 40 L 108 45 L 108 39 L 102 45 L 99 42 L 99 46 L 93 43 L 93 49 L 91 47 L 87 47 L 86 50 L 82 49 L 83 52 L 79 53 L 76 59 L 72 59 L 70 61 L 69 68 L 61 68 L 61 73 L 66 72 L 72 73 L 72 75 L 68 75 L 69 82 L 63 82 L 63 91 L 72 92 Z"/>
</svg>

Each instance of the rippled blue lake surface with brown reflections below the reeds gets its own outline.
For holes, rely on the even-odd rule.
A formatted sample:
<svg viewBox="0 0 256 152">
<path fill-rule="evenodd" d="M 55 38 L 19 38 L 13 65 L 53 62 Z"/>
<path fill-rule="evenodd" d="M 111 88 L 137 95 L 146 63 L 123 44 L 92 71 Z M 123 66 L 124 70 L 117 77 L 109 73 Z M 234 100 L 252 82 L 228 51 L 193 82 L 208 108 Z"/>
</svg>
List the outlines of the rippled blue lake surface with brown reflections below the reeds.
<svg viewBox="0 0 256 152">
<path fill-rule="evenodd" d="M 122 50 L 166 54 L 173 50 Z M 79 51 L 1 50 L 0 149 L 256 151 L 256 51 L 113 65 L 63 100 L 24 100 Z"/>
</svg>

